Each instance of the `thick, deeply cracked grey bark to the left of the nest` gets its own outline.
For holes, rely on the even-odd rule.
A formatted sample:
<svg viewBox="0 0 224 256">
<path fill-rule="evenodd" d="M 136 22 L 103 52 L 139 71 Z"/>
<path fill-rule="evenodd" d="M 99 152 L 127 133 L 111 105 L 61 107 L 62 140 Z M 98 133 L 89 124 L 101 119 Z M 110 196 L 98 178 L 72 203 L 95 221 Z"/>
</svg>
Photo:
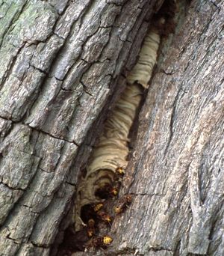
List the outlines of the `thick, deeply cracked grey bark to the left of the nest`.
<svg viewBox="0 0 224 256">
<path fill-rule="evenodd" d="M 49 255 L 155 2 L 0 1 L 0 255 Z"/>
</svg>

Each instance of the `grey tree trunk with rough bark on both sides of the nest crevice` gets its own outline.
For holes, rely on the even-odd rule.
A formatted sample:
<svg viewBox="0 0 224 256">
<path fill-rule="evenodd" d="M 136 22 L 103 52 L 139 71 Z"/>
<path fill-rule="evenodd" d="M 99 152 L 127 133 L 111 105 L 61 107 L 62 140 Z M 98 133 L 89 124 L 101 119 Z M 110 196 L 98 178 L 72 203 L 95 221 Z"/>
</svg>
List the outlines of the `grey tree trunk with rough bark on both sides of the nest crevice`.
<svg viewBox="0 0 224 256">
<path fill-rule="evenodd" d="M 161 4 L 1 1 L 0 255 L 50 254 Z M 224 253 L 223 7 L 192 1 L 161 48 L 108 255 Z"/>
</svg>

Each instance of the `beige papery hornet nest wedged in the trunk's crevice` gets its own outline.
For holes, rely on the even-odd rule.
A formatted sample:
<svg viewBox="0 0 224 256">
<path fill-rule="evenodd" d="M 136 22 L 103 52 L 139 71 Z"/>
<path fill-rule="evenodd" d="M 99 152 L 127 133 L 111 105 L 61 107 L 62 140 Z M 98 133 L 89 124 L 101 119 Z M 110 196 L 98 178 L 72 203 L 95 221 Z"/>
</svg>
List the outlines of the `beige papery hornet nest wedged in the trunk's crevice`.
<svg viewBox="0 0 224 256">
<path fill-rule="evenodd" d="M 147 88 L 157 58 L 160 36 L 152 28 L 143 43 L 140 58 L 128 74 L 125 91 L 116 103 L 112 115 L 105 122 L 99 143 L 93 149 L 87 174 L 80 181 L 75 198 L 75 231 L 81 229 L 81 207 L 102 201 L 96 197 L 98 189 L 112 184 L 117 167 L 125 168 L 128 164 L 128 134 L 133 124 L 137 108 Z"/>
</svg>

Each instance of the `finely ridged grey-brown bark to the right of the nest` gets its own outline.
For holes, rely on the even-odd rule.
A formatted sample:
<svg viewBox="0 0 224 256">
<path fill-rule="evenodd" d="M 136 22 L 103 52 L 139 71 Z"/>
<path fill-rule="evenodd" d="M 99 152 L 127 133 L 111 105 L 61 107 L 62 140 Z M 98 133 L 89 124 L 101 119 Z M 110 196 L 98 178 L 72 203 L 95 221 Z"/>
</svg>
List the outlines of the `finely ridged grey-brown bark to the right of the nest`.
<svg viewBox="0 0 224 256">
<path fill-rule="evenodd" d="M 134 200 L 113 222 L 110 255 L 224 254 L 223 17 L 223 1 L 192 1 L 161 57 L 121 192 Z"/>
</svg>

